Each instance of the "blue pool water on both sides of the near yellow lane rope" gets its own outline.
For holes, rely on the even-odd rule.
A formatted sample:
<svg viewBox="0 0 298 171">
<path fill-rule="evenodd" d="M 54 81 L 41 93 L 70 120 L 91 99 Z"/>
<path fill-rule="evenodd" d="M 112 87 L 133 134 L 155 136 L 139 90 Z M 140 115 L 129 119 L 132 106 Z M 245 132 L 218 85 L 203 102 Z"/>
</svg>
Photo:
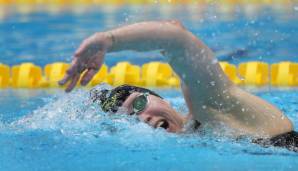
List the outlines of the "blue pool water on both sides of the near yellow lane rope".
<svg viewBox="0 0 298 171">
<path fill-rule="evenodd" d="M 59 9 L 21 14 L 7 8 L 0 23 L 0 61 L 45 65 L 69 61 L 80 41 L 95 31 L 140 20 L 177 18 L 231 63 L 262 60 L 297 62 L 295 8 L 148 6 Z M 250 9 L 251 10 L 251 9 Z M 54 12 L 53 12 L 54 11 Z M 58 11 L 58 12 L 57 12 Z M 240 49 L 234 57 L 228 54 Z M 241 52 L 241 53 L 240 53 Z M 156 53 L 123 52 L 107 64 L 158 60 Z M 297 170 L 297 153 L 262 148 L 209 134 L 175 135 L 135 118 L 107 116 L 88 100 L 87 89 L 0 90 L 0 170 Z M 248 89 L 277 105 L 298 124 L 297 89 Z M 157 90 L 186 112 L 179 90 Z M 212 134 L 213 135 L 213 134 Z"/>
</svg>

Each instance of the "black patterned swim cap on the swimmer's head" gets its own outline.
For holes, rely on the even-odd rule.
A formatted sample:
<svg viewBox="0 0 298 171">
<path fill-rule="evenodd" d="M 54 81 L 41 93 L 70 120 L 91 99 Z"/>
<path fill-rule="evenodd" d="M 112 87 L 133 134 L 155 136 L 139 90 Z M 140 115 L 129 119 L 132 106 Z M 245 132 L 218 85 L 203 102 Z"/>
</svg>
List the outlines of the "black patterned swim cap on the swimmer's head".
<svg viewBox="0 0 298 171">
<path fill-rule="evenodd" d="M 92 89 L 90 91 L 90 98 L 93 102 L 98 102 L 104 112 L 115 113 L 118 111 L 119 107 L 122 106 L 127 97 L 134 92 L 149 93 L 151 95 L 162 98 L 149 89 L 131 85 L 121 85 L 112 90 Z"/>
</svg>

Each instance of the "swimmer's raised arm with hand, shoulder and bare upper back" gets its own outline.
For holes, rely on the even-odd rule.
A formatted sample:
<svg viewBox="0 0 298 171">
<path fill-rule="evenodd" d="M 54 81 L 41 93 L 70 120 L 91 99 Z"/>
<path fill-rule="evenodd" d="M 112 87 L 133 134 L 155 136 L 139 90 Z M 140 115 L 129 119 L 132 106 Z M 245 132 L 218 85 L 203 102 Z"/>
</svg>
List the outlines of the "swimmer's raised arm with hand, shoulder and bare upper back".
<svg viewBox="0 0 298 171">
<path fill-rule="evenodd" d="M 252 132 L 262 129 L 267 133 L 272 127 L 268 126 L 266 129 L 256 125 L 266 126 L 258 124 L 261 122 L 271 126 L 281 123 L 280 120 L 268 121 L 272 113 L 277 116 L 275 118 L 281 118 L 282 115 L 267 102 L 244 93 L 231 83 L 221 70 L 213 52 L 176 21 L 142 22 L 89 37 L 75 53 L 72 66 L 62 84 L 71 81 L 67 88 L 70 91 L 81 73 L 86 71 L 81 80 L 81 84 L 86 85 L 103 63 L 105 53 L 122 50 L 162 50 L 187 86 L 189 93 L 185 94 L 186 101 L 191 113 L 200 122 L 217 119 L 229 122 L 229 125 L 240 125 L 240 128 L 254 128 Z M 235 95 L 235 92 L 239 93 Z M 268 110 L 264 110 L 262 106 L 267 106 Z M 210 111 L 215 112 L 212 114 Z M 291 130 L 289 122 L 284 120 L 285 125 L 289 125 L 287 129 Z"/>
</svg>

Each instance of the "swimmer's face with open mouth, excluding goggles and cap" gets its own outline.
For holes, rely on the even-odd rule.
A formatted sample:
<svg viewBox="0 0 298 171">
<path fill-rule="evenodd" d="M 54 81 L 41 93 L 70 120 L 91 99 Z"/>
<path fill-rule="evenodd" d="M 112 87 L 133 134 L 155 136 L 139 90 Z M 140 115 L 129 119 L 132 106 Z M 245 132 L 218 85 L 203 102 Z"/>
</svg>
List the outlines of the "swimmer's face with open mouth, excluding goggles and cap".
<svg viewBox="0 0 298 171">
<path fill-rule="evenodd" d="M 133 112 L 133 101 L 141 93 L 132 93 L 124 101 L 122 107 L 125 107 L 128 113 Z M 152 126 L 153 128 L 164 128 L 168 132 L 181 132 L 185 118 L 177 113 L 168 102 L 163 99 L 148 95 L 146 108 L 137 114 L 138 118 Z"/>
</svg>

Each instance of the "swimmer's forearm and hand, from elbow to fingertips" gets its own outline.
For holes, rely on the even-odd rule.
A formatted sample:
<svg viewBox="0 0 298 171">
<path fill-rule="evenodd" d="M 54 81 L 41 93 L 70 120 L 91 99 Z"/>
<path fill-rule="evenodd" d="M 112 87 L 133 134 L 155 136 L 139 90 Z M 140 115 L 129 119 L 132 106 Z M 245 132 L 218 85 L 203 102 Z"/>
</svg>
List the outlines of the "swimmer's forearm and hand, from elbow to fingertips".
<svg viewBox="0 0 298 171">
<path fill-rule="evenodd" d="M 67 85 L 66 91 L 71 91 L 84 72 L 81 84 L 86 85 L 100 69 L 104 56 L 108 52 L 122 50 L 165 52 L 183 51 L 184 29 L 179 22 L 152 21 L 136 23 L 106 32 L 98 32 L 85 39 L 74 54 L 71 67 L 66 76 L 59 82 Z M 178 52 L 175 52 L 178 55 Z"/>
</svg>

